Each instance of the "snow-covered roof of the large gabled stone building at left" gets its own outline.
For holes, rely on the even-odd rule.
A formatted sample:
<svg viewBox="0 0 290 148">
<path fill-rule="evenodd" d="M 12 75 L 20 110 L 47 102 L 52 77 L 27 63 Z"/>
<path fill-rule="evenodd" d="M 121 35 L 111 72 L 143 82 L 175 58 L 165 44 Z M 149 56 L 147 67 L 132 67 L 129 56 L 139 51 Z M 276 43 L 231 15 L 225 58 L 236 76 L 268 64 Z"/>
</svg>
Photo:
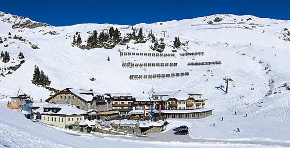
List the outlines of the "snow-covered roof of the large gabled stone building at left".
<svg viewBox="0 0 290 148">
<path fill-rule="evenodd" d="M 78 95 L 85 101 L 92 101 L 95 96 L 104 96 L 104 94 L 100 94 L 91 90 L 73 89 L 73 88 L 69 88 L 68 90 Z"/>
</svg>

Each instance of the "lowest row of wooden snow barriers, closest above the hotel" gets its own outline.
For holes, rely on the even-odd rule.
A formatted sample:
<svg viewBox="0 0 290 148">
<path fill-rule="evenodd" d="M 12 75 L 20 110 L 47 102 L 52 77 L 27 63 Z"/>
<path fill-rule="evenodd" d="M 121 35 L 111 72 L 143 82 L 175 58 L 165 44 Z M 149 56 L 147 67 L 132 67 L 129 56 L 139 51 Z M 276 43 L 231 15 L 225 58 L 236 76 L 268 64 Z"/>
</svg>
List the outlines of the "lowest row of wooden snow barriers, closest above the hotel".
<svg viewBox="0 0 290 148">
<path fill-rule="evenodd" d="M 162 74 L 149 74 L 149 75 L 130 75 L 130 80 L 141 80 L 141 79 L 165 79 L 174 77 L 184 77 L 189 76 L 189 72 L 180 73 L 162 73 Z"/>
</svg>

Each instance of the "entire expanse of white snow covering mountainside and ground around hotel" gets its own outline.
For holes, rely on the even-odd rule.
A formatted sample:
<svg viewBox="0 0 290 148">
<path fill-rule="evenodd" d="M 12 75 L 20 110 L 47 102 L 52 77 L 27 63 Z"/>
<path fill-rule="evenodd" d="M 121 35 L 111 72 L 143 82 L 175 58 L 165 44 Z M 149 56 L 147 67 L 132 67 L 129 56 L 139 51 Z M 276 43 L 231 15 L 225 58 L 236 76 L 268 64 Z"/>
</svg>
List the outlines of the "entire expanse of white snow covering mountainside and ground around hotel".
<svg viewBox="0 0 290 148">
<path fill-rule="evenodd" d="M 3 20 L 3 17 L 12 18 L 12 15 L 5 14 L 1 17 L 1 20 Z M 219 23 L 236 21 L 236 24 L 219 25 L 214 22 L 213 24 L 215 25 L 206 25 L 209 20 L 213 20 L 215 17 L 223 18 L 223 21 Z M 251 20 L 248 18 L 251 18 Z M 250 23 L 254 23 L 254 25 L 250 25 Z M 198 24 L 202 24 L 202 26 L 191 26 Z M 147 97 L 147 92 L 149 92 L 152 87 L 155 91 L 185 90 L 199 92 L 203 94 L 202 97 L 208 99 L 206 101 L 206 107 L 214 108 L 214 114 L 200 120 L 181 120 L 182 122 L 171 120 L 171 124 L 168 125 L 167 130 L 164 133 L 160 133 L 160 135 L 172 134 L 170 129 L 185 124 L 190 126 L 190 136 L 187 135 L 187 142 L 221 142 L 218 145 L 221 147 L 235 146 L 232 144 L 227 145 L 227 143 L 224 144 L 224 142 L 257 142 L 259 144 L 269 143 L 270 145 L 289 146 L 290 139 L 289 136 L 287 136 L 287 133 L 289 133 L 289 131 L 287 131 L 287 125 L 290 123 L 290 91 L 286 90 L 285 87 L 281 87 L 284 83 L 290 85 L 290 42 L 283 40 L 288 37 L 287 33 L 285 37 L 284 34 L 281 34 L 285 32 L 285 28 L 289 27 L 289 25 L 290 21 L 258 18 L 251 15 L 211 15 L 180 21 L 174 20 L 154 24 L 137 24 L 133 27 L 143 27 L 143 34 L 145 34 L 145 36 L 152 30 L 156 37 L 160 39 L 163 37 L 162 31 L 167 31 L 165 35 L 165 43 L 167 45 L 172 45 L 174 37 L 177 36 L 181 42 L 189 41 L 186 46 L 188 49 L 186 51 L 177 49 L 175 57 L 148 57 L 119 56 L 118 50 L 122 52 L 157 53 L 149 48 L 152 44 L 150 41 L 138 44 L 134 44 L 133 41 L 130 41 L 128 43 L 130 47 L 128 50 L 126 46 L 116 46 L 111 50 L 103 48 L 81 50 L 78 47 L 72 47 L 70 44 L 76 31 L 80 32 L 81 38 L 84 41 L 88 37 L 87 31 L 97 30 L 100 32 L 100 30 L 104 28 L 128 26 L 79 24 L 66 27 L 50 26 L 37 27 L 34 29 L 12 29 L 11 24 L 0 21 L 0 37 L 2 39 L 8 38 L 8 32 L 11 32 L 12 37 L 14 35 L 22 36 L 33 44 L 37 44 L 40 48 L 38 50 L 32 49 L 29 43 L 23 43 L 14 39 L 9 39 L 0 44 L 0 51 L 8 51 L 12 61 L 16 62 L 9 62 L 6 64 L 0 62 L 1 68 L 16 65 L 17 55 L 20 51 L 25 56 L 25 63 L 22 64 L 19 69 L 12 71 L 13 74 L 0 77 L 0 94 L 13 94 L 20 87 L 24 92 L 30 94 L 34 100 L 40 100 L 41 98 L 47 99 L 50 92 L 45 88 L 33 85 L 31 82 L 35 65 L 39 66 L 39 68 L 48 75 L 51 80 L 51 86 L 59 90 L 65 88 L 93 88 L 94 91 L 98 93 L 130 92 L 136 96 L 145 97 Z M 253 29 L 245 29 L 245 27 Z M 119 30 L 122 36 L 132 32 L 130 28 L 120 28 Z M 57 31 L 60 34 L 45 35 L 44 33 L 48 31 Z M 4 47 L 4 45 L 8 45 L 8 47 Z M 184 50 L 186 47 L 182 46 Z M 174 50 L 172 46 L 166 46 L 163 53 L 172 53 L 172 50 Z M 186 52 L 204 52 L 205 55 L 179 56 L 179 54 Z M 110 61 L 107 61 L 108 56 L 110 57 Z M 222 61 L 222 64 L 211 66 L 187 65 L 188 62 L 211 61 Z M 177 63 L 177 67 L 125 68 L 122 67 L 123 62 Z M 265 70 L 265 67 L 268 67 L 268 69 Z M 210 72 L 207 71 L 208 69 Z M 178 72 L 189 72 L 189 76 L 169 79 L 129 80 L 129 75 Z M 227 94 L 221 89 L 214 88 L 216 86 L 225 85 L 225 81 L 223 80 L 225 76 L 231 76 L 231 79 L 236 84 L 236 86 L 233 87 L 233 82 L 229 83 L 229 91 Z M 95 78 L 96 81 L 90 81 L 90 78 Z M 270 79 L 273 79 L 274 83 L 268 85 Z M 254 90 L 251 90 L 252 87 Z M 274 92 L 279 89 L 281 90 L 281 94 L 270 94 L 269 96 L 265 96 L 269 90 Z M 143 92 L 145 92 L 145 94 L 143 94 Z M 6 102 L 7 101 L 3 101 L 2 105 Z M 237 116 L 232 115 L 234 111 L 238 113 Z M 97 138 L 96 140 L 95 137 L 91 136 L 76 137 L 67 135 L 55 131 L 55 129 L 50 127 L 27 121 L 22 117 L 20 112 L 16 112 L 16 116 L 14 116 L 14 113 L 15 112 L 5 109 L 1 110 L 0 123 L 5 127 L 1 128 L 2 130 L 4 129 L 2 132 L 10 134 L 6 129 L 12 128 L 9 131 L 17 130 L 16 133 L 23 132 L 22 134 L 24 135 L 30 133 L 29 137 L 33 137 L 30 140 L 40 137 L 48 142 L 51 141 L 56 147 L 58 147 L 58 144 L 69 147 L 81 147 L 83 143 L 81 140 L 83 139 L 85 139 L 85 141 L 93 139 L 91 143 L 105 139 L 104 142 L 107 144 L 108 141 L 112 140 L 112 145 L 110 145 L 112 147 L 118 144 L 118 140 L 121 143 L 129 143 L 129 145 L 133 143 L 132 146 L 136 144 L 135 139 L 131 140 L 130 138 L 122 139 L 109 136 Z M 247 118 L 243 117 L 246 113 L 248 114 Z M 218 120 L 222 116 L 225 118 L 223 122 Z M 23 124 L 16 124 L 19 119 L 21 119 L 21 123 Z M 213 123 L 215 123 L 215 127 L 210 126 Z M 7 127 L 8 125 L 11 127 Z M 241 133 L 236 133 L 234 131 L 238 127 Z M 54 137 L 50 136 L 54 135 L 53 133 L 57 134 L 55 134 Z M 61 136 L 64 136 L 64 139 L 74 137 L 74 140 L 61 140 Z M 168 139 L 178 141 L 174 140 L 176 136 L 171 136 L 172 138 Z M 156 136 L 152 135 L 152 137 Z M 5 138 L 3 139 L 5 140 Z M 154 140 L 154 138 L 149 139 Z M 184 141 L 182 142 L 182 138 L 180 138 L 180 143 L 170 142 L 168 140 L 164 142 L 166 139 L 163 139 L 162 136 L 156 137 L 156 139 L 163 141 L 161 142 L 163 146 L 177 146 L 178 144 L 189 146 L 185 144 Z M 148 145 L 152 146 L 158 144 L 158 142 L 152 142 L 150 140 L 147 140 Z M 18 141 L 20 141 L 20 139 L 18 139 Z M 78 142 L 80 142 L 80 144 L 78 144 Z M 143 142 L 143 144 L 147 144 L 147 142 Z M 17 142 L 17 140 L 9 141 L 9 139 L 5 140 L 5 143 L 12 147 L 17 147 L 21 144 L 21 142 Z M 14 143 L 16 143 L 16 145 L 12 145 Z M 43 146 L 41 142 L 38 144 L 39 146 Z M 88 147 L 90 146 L 93 145 L 89 145 Z M 198 143 L 197 146 L 214 147 L 214 144 L 211 145 L 207 143 L 203 145 Z M 241 145 L 238 146 L 240 147 Z M 242 146 L 248 147 L 247 144 Z M 249 145 L 249 147 L 251 146 L 252 145 Z M 27 147 L 29 147 L 29 145 Z"/>
</svg>

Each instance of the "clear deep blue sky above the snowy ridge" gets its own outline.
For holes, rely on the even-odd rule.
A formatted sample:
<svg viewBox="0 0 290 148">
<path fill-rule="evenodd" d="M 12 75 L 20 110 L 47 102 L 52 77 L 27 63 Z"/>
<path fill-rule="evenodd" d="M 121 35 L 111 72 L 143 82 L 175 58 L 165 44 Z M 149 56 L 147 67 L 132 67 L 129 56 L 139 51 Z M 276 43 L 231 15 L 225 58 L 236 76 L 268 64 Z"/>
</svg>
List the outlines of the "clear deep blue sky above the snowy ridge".
<svg viewBox="0 0 290 148">
<path fill-rule="evenodd" d="M 290 20 L 289 0 L 1 0 L 0 11 L 53 26 L 135 25 L 212 14 Z"/>
</svg>

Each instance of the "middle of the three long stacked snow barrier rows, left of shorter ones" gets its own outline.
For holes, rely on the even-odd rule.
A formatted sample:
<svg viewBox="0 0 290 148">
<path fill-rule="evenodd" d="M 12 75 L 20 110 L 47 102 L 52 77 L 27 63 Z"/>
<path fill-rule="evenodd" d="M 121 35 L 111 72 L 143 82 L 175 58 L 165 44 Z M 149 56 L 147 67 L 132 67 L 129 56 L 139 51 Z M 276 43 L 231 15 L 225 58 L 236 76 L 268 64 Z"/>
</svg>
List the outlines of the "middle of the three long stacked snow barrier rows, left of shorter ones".
<svg viewBox="0 0 290 148">
<path fill-rule="evenodd" d="M 122 67 L 177 67 L 177 63 L 122 63 Z"/>
</svg>

